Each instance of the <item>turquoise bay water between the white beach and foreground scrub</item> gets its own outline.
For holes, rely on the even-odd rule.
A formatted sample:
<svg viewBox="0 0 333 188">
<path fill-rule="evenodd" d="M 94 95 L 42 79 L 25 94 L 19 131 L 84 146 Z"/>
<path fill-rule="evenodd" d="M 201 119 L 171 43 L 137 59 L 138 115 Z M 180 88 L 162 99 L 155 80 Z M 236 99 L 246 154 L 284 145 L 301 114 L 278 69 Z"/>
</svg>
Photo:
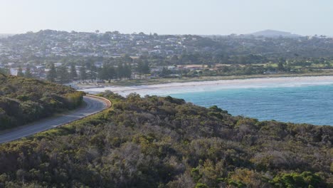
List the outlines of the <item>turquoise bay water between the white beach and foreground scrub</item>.
<svg viewBox="0 0 333 188">
<path fill-rule="evenodd" d="M 258 120 L 333 125 L 333 85 L 222 89 L 171 96 L 205 107 L 217 105 L 232 115 Z"/>
</svg>

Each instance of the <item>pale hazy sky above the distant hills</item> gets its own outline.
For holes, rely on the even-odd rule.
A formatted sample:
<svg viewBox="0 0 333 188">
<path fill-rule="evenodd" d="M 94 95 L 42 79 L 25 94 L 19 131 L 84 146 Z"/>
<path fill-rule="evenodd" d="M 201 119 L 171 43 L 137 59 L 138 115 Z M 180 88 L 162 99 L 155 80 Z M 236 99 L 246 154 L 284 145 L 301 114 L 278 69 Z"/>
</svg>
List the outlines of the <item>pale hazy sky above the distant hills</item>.
<svg viewBox="0 0 333 188">
<path fill-rule="evenodd" d="M 41 29 L 333 36 L 332 0 L 0 0 L 0 33 Z"/>
</svg>

